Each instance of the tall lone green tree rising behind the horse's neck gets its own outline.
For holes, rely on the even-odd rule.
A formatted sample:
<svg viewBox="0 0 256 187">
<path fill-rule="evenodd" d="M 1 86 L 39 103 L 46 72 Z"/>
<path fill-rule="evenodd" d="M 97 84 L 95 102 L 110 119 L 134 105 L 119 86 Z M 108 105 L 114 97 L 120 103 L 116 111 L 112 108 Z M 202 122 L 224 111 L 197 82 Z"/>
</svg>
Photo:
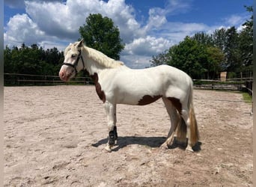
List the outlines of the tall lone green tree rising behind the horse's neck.
<svg viewBox="0 0 256 187">
<path fill-rule="evenodd" d="M 115 60 L 120 59 L 124 43 L 112 19 L 103 17 L 100 13 L 90 14 L 86 18 L 86 24 L 79 28 L 79 33 L 86 46 L 97 49 Z"/>
</svg>

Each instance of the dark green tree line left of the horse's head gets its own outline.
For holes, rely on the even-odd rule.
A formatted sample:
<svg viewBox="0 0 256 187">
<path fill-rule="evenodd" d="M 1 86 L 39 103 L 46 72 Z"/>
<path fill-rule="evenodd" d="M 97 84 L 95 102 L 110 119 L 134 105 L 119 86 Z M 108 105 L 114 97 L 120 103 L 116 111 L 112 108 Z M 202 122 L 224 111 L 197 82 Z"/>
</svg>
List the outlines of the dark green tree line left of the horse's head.
<svg viewBox="0 0 256 187">
<path fill-rule="evenodd" d="M 4 73 L 58 76 L 64 53 L 57 48 L 43 49 L 37 44 L 4 49 Z"/>
</svg>

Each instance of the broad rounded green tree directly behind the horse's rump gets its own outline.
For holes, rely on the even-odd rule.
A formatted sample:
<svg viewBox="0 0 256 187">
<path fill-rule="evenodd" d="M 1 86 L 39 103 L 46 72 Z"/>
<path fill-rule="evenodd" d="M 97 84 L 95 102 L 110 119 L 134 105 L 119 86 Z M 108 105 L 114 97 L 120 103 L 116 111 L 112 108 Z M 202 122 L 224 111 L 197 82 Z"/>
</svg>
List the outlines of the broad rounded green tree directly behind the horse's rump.
<svg viewBox="0 0 256 187">
<path fill-rule="evenodd" d="M 188 73 L 193 79 L 214 79 L 224 61 L 224 54 L 210 43 L 198 42 L 198 38 L 186 37 L 178 45 L 153 56 L 151 66 L 168 64 Z"/>
</svg>

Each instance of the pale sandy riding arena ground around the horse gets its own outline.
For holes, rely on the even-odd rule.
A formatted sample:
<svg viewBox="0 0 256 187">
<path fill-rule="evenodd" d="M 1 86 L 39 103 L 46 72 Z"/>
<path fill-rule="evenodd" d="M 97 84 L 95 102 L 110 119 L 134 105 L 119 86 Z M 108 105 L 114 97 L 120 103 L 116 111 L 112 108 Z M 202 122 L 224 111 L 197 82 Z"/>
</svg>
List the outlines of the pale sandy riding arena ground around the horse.
<svg viewBox="0 0 256 187">
<path fill-rule="evenodd" d="M 4 186 L 252 186 L 251 105 L 194 91 L 201 151 L 162 150 L 162 100 L 118 105 L 118 146 L 94 86 L 4 88 Z"/>
</svg>

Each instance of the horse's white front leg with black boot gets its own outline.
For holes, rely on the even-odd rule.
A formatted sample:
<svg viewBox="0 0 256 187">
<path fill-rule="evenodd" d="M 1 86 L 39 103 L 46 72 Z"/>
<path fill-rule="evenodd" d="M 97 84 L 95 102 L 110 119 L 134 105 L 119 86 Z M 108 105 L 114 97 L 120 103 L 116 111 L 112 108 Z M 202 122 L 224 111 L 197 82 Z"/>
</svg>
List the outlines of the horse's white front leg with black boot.
<svg viewBox="0 0 256 187">
<path fill-rule="evenodd" d="M 112 104 L 111 102 L 106 101 L 104 103 L 104 107 L 107 114 L 108 120 L 108 129 L 109 129 L 109 142 L 105 149 L 111 152 L 111 148 L 115 145 L 115 140 L 117 138 L 117 129 L 115 126 L 116 123 L 116 105 Z"/>
</svg>

